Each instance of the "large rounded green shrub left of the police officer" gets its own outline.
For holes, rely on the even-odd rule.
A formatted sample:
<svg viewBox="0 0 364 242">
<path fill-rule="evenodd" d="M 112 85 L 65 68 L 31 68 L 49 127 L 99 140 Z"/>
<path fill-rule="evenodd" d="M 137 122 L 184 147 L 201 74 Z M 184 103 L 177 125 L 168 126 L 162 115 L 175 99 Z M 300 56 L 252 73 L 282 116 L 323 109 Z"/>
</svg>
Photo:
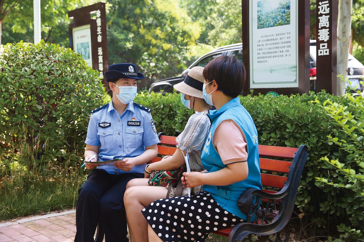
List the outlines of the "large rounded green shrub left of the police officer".
<svg viewBox="0 0 364 242">
<path fill-rule="evenodd" d="M 79 160 L 90 111 L 104 93 L 80 55 L 43 41 L 3 45 L 0 90 L 2 151 L 29 144 L 28 158 L 37 166 Z"/>
</svg>

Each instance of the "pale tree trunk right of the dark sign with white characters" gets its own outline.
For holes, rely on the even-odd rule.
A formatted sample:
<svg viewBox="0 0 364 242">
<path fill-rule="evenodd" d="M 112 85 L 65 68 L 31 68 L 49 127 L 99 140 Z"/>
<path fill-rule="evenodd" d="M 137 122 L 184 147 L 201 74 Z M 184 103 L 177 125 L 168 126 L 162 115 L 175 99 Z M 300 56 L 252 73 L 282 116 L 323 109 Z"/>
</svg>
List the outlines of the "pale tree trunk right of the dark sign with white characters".
<svg viewBox="0 0 364 242">
<path fill-rule="evenodd" d="M 337 74 L 344 80 L 348 73 L 348 57 L 351 36 L 351 15 L 353 0 L 339 0 L 337 17 Z M 345 93 L 346 82 L 337 77 L 337 95 Z"/>
</svg>

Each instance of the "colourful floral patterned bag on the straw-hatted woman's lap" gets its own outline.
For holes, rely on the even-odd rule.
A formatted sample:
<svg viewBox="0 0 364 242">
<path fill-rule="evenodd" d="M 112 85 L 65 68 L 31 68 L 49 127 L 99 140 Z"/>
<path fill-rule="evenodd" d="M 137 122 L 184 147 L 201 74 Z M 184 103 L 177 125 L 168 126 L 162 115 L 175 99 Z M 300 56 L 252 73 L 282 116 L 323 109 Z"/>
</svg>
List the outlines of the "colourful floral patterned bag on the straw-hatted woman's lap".
<svg viewBox="0 0 364 242">
<path fill-rule="evenodd" d="M 177 186 L 177 181 L 181 180 L 186 165 L 174 170 L 154 170 L 149 175 L 149 185 L 151 186 L 167 186 L 171 182 L 172 186 Z"/>
</svg>

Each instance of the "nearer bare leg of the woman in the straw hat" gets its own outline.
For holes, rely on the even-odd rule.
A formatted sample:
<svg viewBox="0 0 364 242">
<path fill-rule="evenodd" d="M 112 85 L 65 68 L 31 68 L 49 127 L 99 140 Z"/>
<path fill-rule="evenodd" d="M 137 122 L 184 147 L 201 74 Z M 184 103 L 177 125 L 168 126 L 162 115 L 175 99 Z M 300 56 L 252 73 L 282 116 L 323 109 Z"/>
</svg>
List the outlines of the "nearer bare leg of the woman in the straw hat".
<svg viewBox="0 0 364 242">
<path fill-rule="evenodd" d="M 167 189 L 161 186 L 132 186 L 125 191 L 124 206 L 131 242 L 148 242 L 148 223 L 142 210 L 151 202 L 166 196 Z"/>
</svg>

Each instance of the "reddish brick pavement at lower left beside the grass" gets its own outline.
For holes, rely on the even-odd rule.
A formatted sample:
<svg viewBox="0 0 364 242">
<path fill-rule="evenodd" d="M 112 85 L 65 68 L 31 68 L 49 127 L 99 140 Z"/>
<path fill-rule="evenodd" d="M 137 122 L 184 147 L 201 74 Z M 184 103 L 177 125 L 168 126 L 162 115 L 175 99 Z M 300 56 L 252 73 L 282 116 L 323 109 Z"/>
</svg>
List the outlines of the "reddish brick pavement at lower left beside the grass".
<svg viewBox="0 0 364 242">
<path fill-rule="evenodd" d="M 72 242 L 75 216 L 75 210 L 71 210 L 0 222 L 0 242 Z"/>
</svg>

